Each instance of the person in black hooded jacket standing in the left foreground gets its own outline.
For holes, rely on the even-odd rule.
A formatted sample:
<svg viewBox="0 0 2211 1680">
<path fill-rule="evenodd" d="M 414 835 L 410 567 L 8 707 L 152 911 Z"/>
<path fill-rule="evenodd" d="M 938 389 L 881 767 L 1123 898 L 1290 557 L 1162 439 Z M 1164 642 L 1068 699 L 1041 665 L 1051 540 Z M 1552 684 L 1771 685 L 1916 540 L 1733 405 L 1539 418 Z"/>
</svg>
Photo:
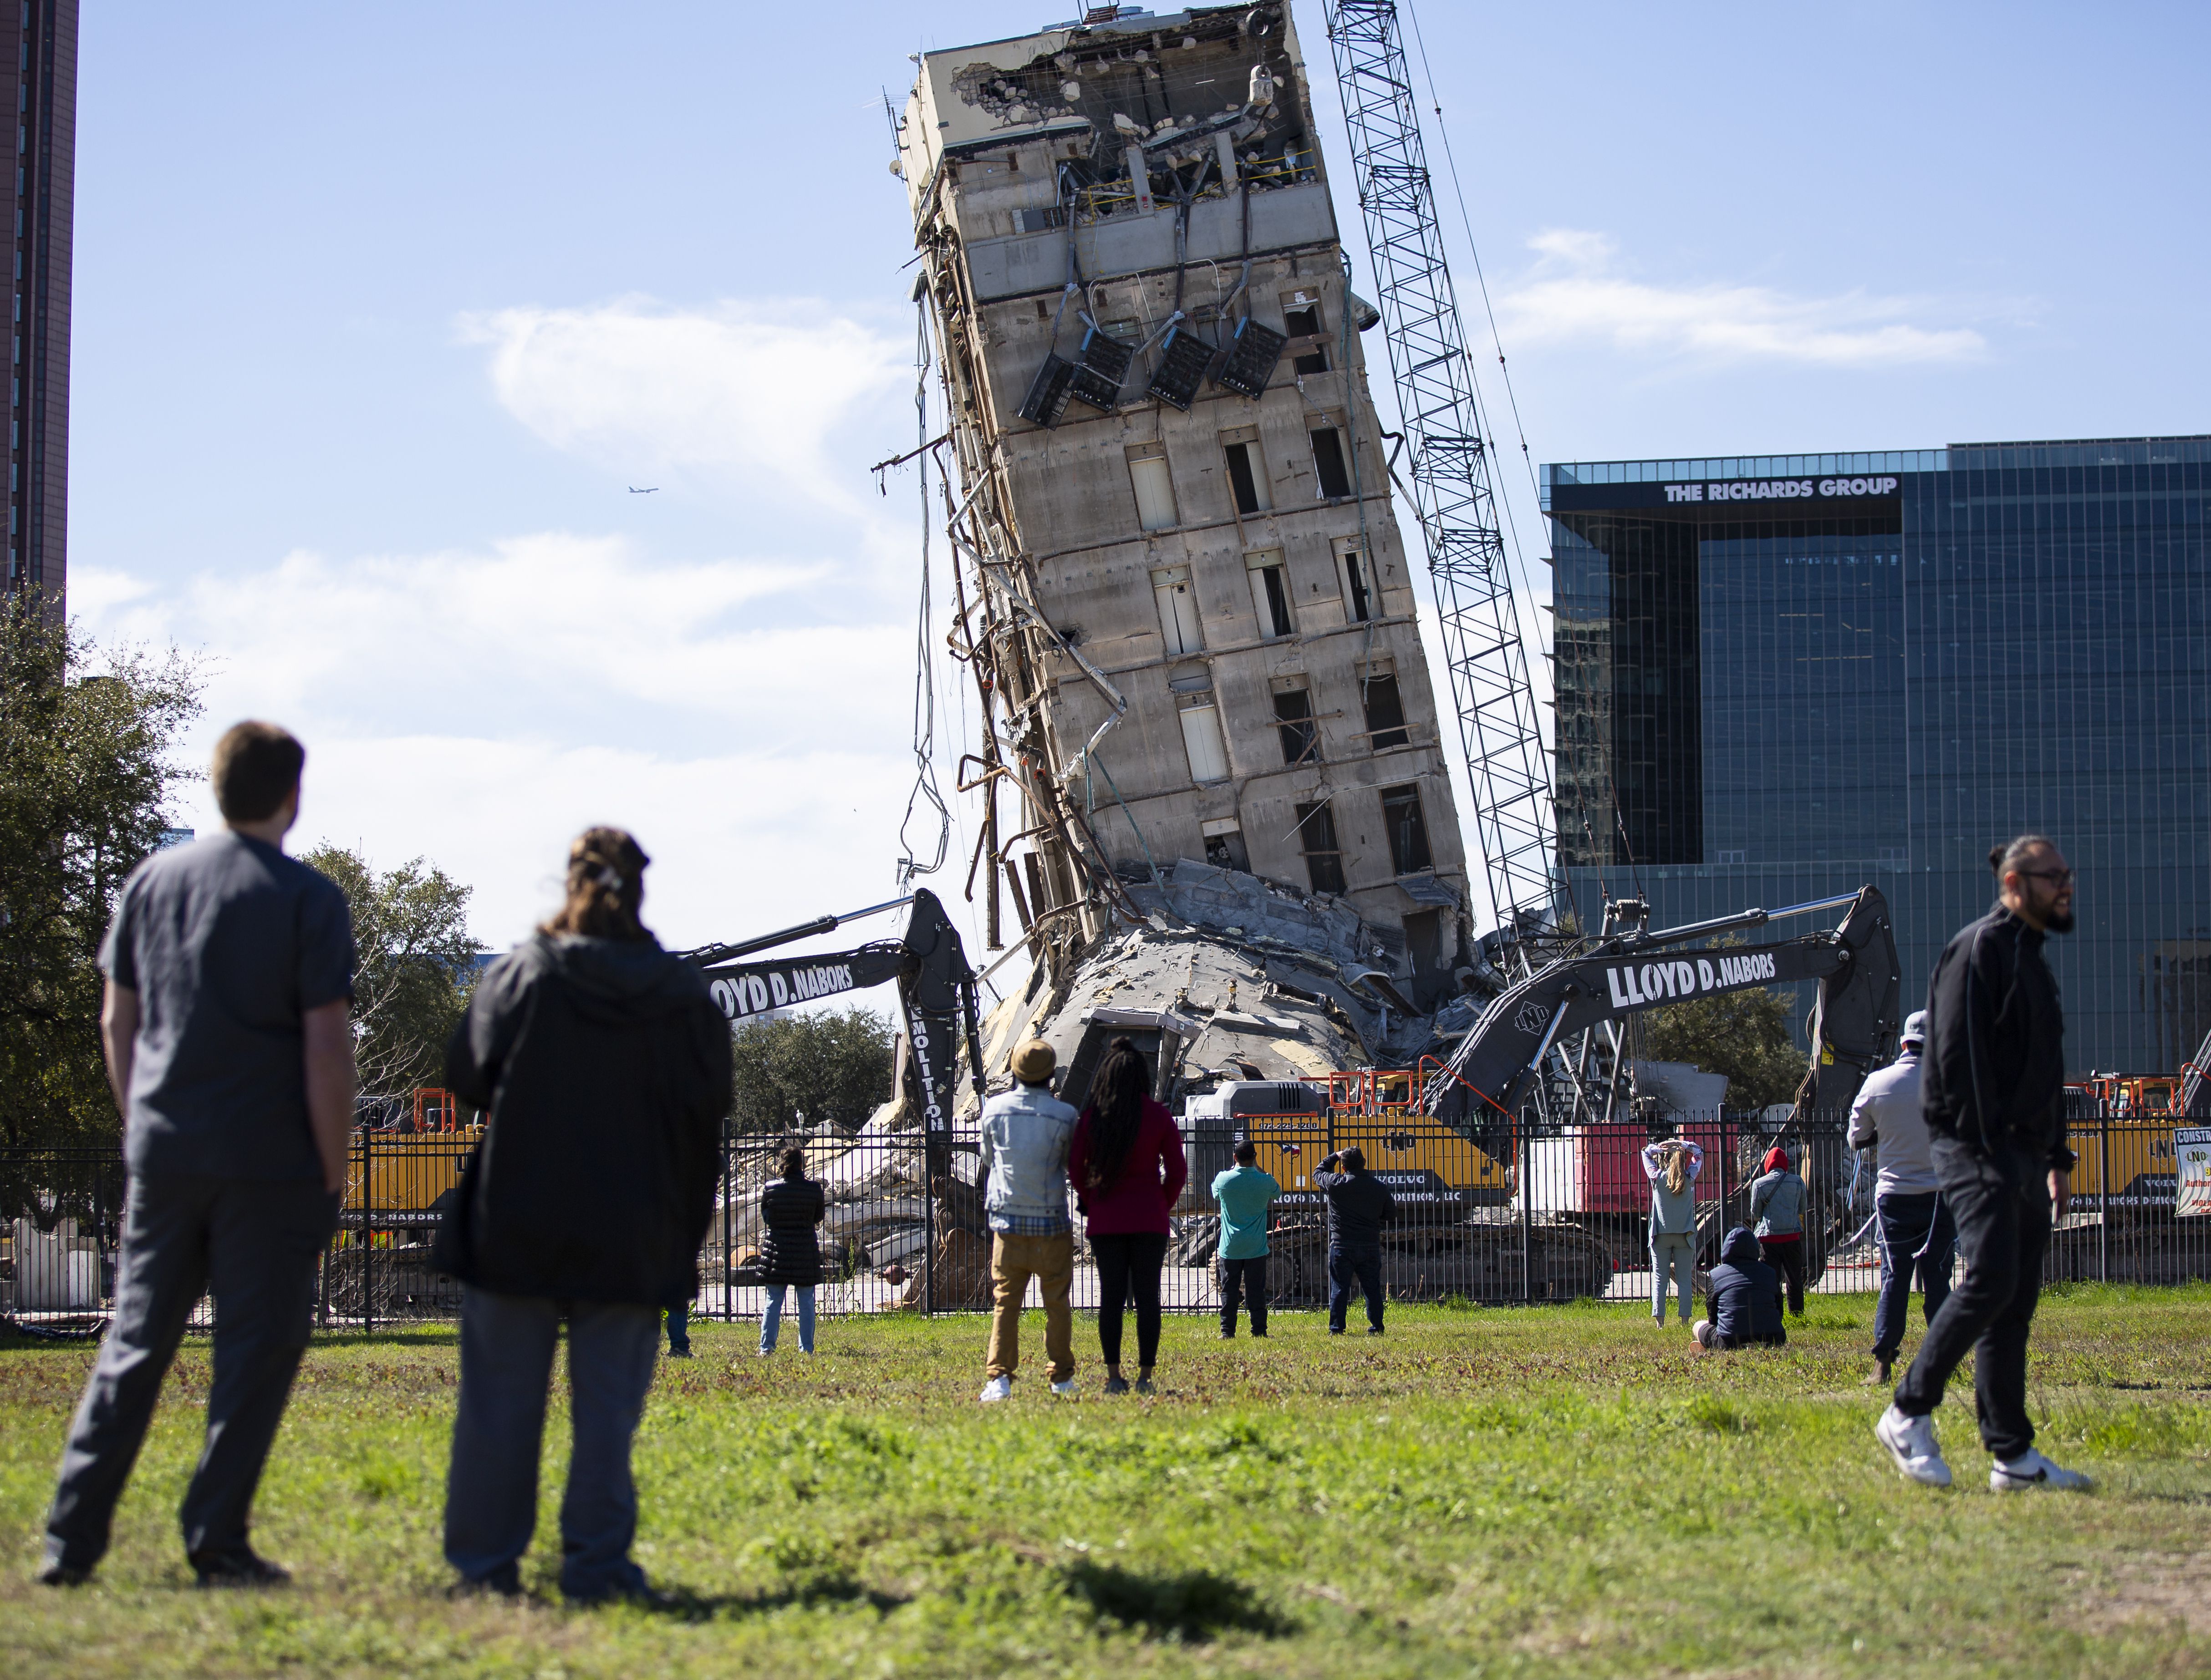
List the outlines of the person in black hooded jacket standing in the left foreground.
<svg viewBox="0 0 2211 1680">
<path fill-rule="evenodd" d="M 495 962 L 447 1046 L 447 1085 L 489 1127 L 438 1231 L 462 1280 L 444 1556 L 522 1589 L 537 1446 L 568 1320 L 575 1450 L 562 1501 L 568 1598 L 646 1592 L 630 1561 L 630 1437 L 661 1302 L 699 1291 L 730 1110 L 730 1026 L 699 970 L 637 920 L 646 853 L 621 829 L 568 849 L 559 915 Z"/>
</svg>

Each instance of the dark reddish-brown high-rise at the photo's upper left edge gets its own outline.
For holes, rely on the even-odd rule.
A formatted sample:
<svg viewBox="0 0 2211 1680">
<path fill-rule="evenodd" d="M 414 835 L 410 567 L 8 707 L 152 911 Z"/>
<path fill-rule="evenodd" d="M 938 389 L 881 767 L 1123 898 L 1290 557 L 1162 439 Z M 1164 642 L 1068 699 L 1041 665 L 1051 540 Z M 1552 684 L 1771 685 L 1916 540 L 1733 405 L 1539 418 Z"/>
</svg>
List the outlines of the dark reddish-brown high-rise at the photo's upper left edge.
<svg viewBox="0 0 2211 1680">
<path fill-rule="evenodd" d="M 69 590 L 69 276 L 77 201 L 77 0 L 0 0 L 15 80 L 9 595 L 62 615 Z"/>
</svg>

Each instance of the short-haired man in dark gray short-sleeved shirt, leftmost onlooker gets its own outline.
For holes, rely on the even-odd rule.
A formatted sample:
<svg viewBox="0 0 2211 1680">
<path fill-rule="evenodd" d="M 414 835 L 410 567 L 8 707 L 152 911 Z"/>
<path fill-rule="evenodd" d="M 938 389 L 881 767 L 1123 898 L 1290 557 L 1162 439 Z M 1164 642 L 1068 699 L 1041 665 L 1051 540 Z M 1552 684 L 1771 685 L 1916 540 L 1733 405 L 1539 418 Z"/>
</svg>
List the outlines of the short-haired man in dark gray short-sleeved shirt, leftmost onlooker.
<svg viewBox="0 0 2211 1680">
<path fill-rule="evenodd" d="M 130 1172 L 115 1322 L 69 1428 L 40 1581 L 86 1581 L 161 1375 L 214 1293 L 208 1446 L 184 1494 L 201 1585 L 281 1583 L 248 1514 L 314 1313 L 354 1121 L 345 895 L 283 853 L 305 749 L 270 723 L 214 747 L 226 831 L 124 884 L 99 951 L 99 1037 Z"/>
</svg>

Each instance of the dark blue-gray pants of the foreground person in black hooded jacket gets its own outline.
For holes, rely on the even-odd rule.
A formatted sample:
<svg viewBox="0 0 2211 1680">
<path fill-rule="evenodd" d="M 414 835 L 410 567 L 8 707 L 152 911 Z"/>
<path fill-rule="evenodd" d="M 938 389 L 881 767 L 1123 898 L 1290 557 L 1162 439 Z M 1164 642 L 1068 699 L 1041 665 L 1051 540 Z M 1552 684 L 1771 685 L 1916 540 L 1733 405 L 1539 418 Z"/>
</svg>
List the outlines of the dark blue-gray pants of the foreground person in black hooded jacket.
<svg viewBox="0 0 2211 1680">
<path fill-rule="evenodd" d="M 568 1320 L 573 1448 L 559 1505 L 559 1589 L 570 1598 L 639 1592 L 630 1561 L 637 1483 L 630 1437 L 646 1413 L 661 1348 L 661 1309 L 555 1302 L 467 1289 L 460 1304 L 460 1413 L 444 1481 L 444 1561 L 500 1592 L 537 1527 L 537 1452 L 553 1382 L 553 1346 Z"/>
</svg>

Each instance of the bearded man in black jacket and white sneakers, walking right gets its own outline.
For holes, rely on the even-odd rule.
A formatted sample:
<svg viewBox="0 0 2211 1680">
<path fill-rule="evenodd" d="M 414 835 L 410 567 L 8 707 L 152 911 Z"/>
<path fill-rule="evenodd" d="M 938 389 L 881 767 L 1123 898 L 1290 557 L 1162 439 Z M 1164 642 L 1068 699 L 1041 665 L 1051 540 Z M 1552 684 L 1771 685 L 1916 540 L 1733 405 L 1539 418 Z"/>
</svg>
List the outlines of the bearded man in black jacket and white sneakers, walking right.
<svg viewBox="0 0 2211 1680">
<path fill-rule="evenodd" d="M 1935 1408 L 1972 1351 L 1988 1485 L 2085 1488 L 2087 1477 L 2034 1450 L 2027 1329 L 2050 1227 L 2072 1198 L 2065 1147 L 2065 1017 L 2043 962 L 2072 933 L 2074 871 L 2052 840 L 2025 833 L 1988 855 L 2001 897 L 1943 948 L 1928 984 L 1919 1101 L 1928 1154 L 1966 1251 L 1966 1280 L 1928 1324 L 1875 1437 L 1913 1481 L 1950 1485 Z"/>
</svg>

